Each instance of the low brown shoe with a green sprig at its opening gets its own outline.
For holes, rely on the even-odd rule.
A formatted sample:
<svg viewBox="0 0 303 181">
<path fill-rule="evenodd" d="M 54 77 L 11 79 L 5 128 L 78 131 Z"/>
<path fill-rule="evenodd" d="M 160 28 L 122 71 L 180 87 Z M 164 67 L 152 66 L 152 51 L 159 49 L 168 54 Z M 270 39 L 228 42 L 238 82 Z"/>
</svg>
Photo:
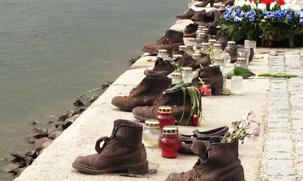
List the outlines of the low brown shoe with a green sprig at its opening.
<svg viewBox="0 0 303 181">
<path fill-rule="evenodd" d="M 174 61 L 178 62 L 182 58 L 176 58 Z M 174 67 L 168 60 L 163 60 L 162 58 L 158 57 L 155 62 L 155 67 L 151 70 L 144 70 L 144 75 L 155 74 L 155 75 L 163 75 L 168 76 L 170 73 L 174 71 Z"/>
</svg>

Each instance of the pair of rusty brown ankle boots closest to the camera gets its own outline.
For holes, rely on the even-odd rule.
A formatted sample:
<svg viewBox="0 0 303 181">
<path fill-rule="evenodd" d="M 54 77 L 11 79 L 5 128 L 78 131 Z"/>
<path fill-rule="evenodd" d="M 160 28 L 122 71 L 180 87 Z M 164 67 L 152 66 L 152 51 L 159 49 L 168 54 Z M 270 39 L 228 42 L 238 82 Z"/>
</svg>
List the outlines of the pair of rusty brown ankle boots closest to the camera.
<svg viewBox="0 0 303 181">
<path fill-rule="evenodd" d="M 91 174 L 115 171 L 148 173 L 146 150 L 141 143 L 142 131 L 142 124 L 118 119 L 114 122 L 112 135 L 97 140 L 97 153 L 78 157 L 72 166 Z M 211 137 L 207 148 L 199 141 L 195 142 L 192 150 L 200 158 L 194 168 L 188 172 L 171 173 L 166 180 L 244 181 L 243 167 L 238 159 L 238 142 L 219 143 L 221 139 L 222 137 Z"/>
</svg>

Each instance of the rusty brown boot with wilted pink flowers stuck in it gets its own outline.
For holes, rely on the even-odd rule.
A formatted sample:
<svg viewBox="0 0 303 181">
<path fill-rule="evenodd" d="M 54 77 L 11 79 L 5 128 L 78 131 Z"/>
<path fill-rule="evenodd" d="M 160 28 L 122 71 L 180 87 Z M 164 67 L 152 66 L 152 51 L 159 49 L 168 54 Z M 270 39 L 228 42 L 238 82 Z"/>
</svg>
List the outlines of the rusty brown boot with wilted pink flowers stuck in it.
<svg viewBox="0 0 303 181">
<path fill-rule="evenodd" d="M 238 141 L 220 143 L 220 138 L 222 137 L 212 137 L 207 149 L 203 144 L 194 148 L 193 152 L 200 158 L 193 169 L 171 173 L 166 181 L 245 181 L 243 167 L 238 158 Z"/>
</svg>

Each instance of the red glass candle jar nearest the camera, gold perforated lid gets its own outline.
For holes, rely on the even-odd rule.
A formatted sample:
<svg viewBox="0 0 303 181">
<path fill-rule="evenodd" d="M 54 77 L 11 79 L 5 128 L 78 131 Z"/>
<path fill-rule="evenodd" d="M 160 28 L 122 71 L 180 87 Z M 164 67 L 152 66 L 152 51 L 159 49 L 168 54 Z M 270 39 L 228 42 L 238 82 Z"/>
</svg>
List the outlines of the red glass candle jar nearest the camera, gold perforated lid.
<svg viewBox="0 0 303 181">
<path fill-rule="evenodd" d="M 163 136 L 159 140 L 159 147 L 164 158 L 176 158 L 178 150 L 181 148 L 181 139 L 179 138 L 177 126 L 163 127 Z"/>
</svg>

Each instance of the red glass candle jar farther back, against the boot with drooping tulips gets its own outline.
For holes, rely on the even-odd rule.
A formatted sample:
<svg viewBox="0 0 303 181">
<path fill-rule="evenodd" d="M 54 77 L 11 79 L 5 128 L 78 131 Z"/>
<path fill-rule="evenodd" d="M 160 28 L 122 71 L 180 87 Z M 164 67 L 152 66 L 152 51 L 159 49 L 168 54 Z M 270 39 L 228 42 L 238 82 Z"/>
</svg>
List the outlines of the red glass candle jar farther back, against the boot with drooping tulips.
<svg viewBox="0 0 303 181">
<path fill-rule="evenodd" d="M 160 122 L 160 130 L 163 131 L 164 126 L 174 125 L 176 122 L 175 116 L 172 115 L 170 106 L 159 106 L 158 115 L 155 118 Z"/>
</svg>

